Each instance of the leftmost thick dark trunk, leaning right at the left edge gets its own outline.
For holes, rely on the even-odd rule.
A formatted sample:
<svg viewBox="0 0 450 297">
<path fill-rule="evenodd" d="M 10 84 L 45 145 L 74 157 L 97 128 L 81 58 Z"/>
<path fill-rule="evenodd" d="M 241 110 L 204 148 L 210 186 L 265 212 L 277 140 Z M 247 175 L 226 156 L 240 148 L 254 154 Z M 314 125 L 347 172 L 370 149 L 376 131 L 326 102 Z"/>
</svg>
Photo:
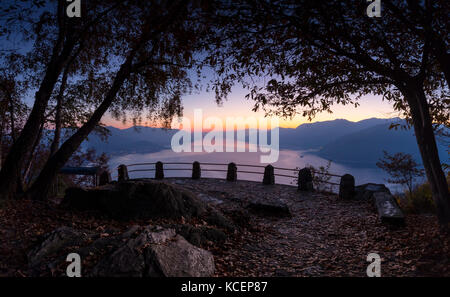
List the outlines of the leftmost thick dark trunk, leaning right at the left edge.
<svg viewBox="0 0 450 297">
<path fill-rule="evenodd" d="M 58 76 L 72 52 L 74 40 L 68 41 L 62 52 L 60 52 L 60 47 L 60 41 L 56 42 L 44 79 L 39 90 L 36 92 L 33 109 L 22 132 L 11 146 L 0 171 L 0 200 L 10 199 L 15 195 L 25 156 L 38 136 L 39 127 L 43 121 L 48 100 L 50 99 Z"/>
</svg>

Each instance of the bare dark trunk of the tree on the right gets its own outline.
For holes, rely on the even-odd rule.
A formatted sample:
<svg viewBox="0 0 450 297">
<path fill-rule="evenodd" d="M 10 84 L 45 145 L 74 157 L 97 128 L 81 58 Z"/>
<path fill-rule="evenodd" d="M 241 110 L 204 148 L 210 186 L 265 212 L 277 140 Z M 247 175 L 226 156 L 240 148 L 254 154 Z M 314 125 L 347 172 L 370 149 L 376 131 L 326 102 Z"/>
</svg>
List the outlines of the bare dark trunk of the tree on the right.
<svg viewBox="0 0 450 297">
<path fill-rule="evenodd" d="M 447 180 L 439 160 L 426 96 L 421 84 L 414 80 L 408 83 L 403 92 L 411 110 L 414 132 L 436 204 L 439 224 L 442 228 L 448 230 L 450 223 L 450 195 Z"/>
</svg>

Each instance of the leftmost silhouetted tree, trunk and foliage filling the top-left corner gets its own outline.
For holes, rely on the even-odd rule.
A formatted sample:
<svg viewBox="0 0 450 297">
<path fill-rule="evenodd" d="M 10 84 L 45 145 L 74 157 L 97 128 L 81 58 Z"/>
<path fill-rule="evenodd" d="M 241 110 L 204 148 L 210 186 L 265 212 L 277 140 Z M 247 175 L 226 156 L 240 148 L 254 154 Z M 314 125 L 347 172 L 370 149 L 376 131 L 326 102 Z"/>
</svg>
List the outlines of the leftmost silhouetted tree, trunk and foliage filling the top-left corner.
<svg viewBox="0 0 450 297">
<path fill-rule="evenodd" d="M 0 37 L 7 38 L 10 35 L 15 38 L 22 37 L 28 43 L 21 45 L 27 47 L 30 41 L 33 43 L 32 51 L 27 55 L 29 58 L 27 66 L 29 66 L 28 70 L 34 71 L 31 71 L 32 74 L 26 78 L 38 83 L 28 119 L 9 150 L 0 171 L 0 199 L 11 198 L 15 195 L 27 152 L 39 138 L 48 101 L 67 61 L 84 41 L 99 50 L 100 45 L 108 40 L 106 36 L 102 38 L 102 34 L 98 32 L 111 28 L 114 22 L 107 22 L 107 16 L 120 4 L 116 4 L 115 1 L 89 1 L 88 3 L 82 18 L 66 17 L 67 3 L 62 0 L 56 3 L 39 0 L 12 2 L 2 6 Z M 14 56 L 20 53 L 21 49 L 6 51 L 13 51 L 12 56 Z M 99 51 L 98 59 L 101 60 L 104 57 L 105 54 Z M 2 60 L 2 63 L 5 61 Z M 2 66 L 5 67 L 5 64 Z M 26 76 L 27 72 L 20 72 L 20 74 Z M 16 75 L 19 76 L 19 73 Z"/>
</svg>

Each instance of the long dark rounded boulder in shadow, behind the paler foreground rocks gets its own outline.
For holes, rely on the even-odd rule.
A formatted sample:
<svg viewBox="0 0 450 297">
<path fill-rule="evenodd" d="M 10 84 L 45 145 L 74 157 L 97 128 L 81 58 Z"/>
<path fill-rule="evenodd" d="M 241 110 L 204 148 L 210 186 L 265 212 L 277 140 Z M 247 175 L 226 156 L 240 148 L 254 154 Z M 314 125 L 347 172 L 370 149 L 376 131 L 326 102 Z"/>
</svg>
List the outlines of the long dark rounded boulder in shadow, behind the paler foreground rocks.
<svg viewBox="0 0 450 297">
<path fill-rule="evenodd" d="M 115 219 L 190 218 L 206 210 L 197 197 L 160 181 L 124 181 L 101 187 L 69 188 L 63 204 L 80 210 L 99 210 Z"/>
</svg>

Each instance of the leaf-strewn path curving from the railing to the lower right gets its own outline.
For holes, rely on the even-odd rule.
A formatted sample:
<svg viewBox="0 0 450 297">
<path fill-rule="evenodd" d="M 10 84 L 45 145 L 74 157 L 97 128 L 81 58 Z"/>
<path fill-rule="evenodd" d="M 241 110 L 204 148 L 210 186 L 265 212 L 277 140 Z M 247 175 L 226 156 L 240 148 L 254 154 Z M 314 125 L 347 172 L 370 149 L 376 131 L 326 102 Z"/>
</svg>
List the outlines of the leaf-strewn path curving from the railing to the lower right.
<svg viewBox="0 0 450 297">
<path fill-rule="evenodd" d="M 224 210 L 248 201 L 279 199 L 292 218 L 250 213 L 250 231 L 216 255 L 218 275 L 366 276 L 367 255 L 381 256 L 383 276 L 450 273 L 448 239 L 431 215 L 408 215 L 406 227 L 378 221 L 370 203 L 340 201 L 336 195 L 299 193 L 295 187 L 217 179 L 174 179 Z"/>
</svg>

